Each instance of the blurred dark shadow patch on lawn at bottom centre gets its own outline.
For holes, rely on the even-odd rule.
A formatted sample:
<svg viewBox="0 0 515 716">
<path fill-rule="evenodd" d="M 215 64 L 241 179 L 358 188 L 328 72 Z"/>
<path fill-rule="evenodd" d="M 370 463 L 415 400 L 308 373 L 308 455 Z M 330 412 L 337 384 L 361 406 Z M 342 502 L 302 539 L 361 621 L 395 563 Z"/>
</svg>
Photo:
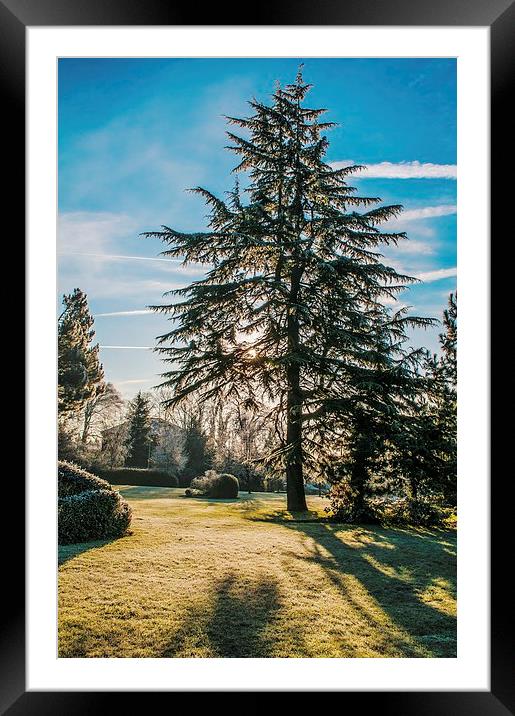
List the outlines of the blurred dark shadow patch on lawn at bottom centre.
<svg viewBox="0 0 515 716">
<path fill-rule="evenodd" d="M 249 581 L 228 574 L 216 584 L 203 609 L 190 611 L 161 656 L 188 658 L 203 646 L 212 658 L 270 657 L 274 640 L 266 631 L 280 607 L 271 578 Z"/>
</svg>

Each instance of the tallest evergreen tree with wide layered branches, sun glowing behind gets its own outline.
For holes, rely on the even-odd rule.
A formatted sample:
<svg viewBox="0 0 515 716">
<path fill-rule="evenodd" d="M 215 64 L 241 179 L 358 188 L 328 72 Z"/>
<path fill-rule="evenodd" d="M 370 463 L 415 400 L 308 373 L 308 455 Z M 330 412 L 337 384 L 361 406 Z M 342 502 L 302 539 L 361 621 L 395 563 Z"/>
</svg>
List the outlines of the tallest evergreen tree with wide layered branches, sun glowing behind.
<svg viewBox="0 0 515 716">
<path fill-rule="evenodd" d="M 163 374 L 170 402 L 195 394 L 235 397 L 248 409 L 266 403 L 279 440 L 267 457 L 286 475 L 289 510 L 306 509 L 304 470 L 328 450 L 317 436 L 329 418 L 341 422 L 360 404 L 378 335 L 389 337 L 393 375 L 396 337 L 417 322 L 388 315 L 381 303 L 414 281 L 377 251 L 405 238 L 378 228 L 401 207 L 357 196 L 346 180 L 361 167 L 324 161 L 323 132 L 333 125 L 320 121 L 326 110 L 304 105 L 309 89 L 299 71 L 294 83 L 276 87 L 270 105 L 253 100 L 250 117 L 228 118 L 246 133 L 228 136 L 240 160 L 235 171 L 248 172 L 248 203 L 238 185 L 226 201 L 197 188 L 211 209 L 207 231 L 163 226 L 146 234 L 168 244 L 166 256 L 211 266 L 203 280 L 172 292 L 180 303 L 154 307 L 177 319 L 158 339 L 173 364 Z"/>
</svg>

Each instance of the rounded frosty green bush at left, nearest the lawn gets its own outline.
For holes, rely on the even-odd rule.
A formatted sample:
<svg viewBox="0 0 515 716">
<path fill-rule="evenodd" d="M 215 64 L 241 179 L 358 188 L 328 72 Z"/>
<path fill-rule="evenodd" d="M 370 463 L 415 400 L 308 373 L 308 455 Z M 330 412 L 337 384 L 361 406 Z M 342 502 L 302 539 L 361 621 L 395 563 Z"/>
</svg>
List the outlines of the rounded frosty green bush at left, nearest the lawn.
<svg viewBox="0 0 515 716">
<path fill-rule="evenodd" d="M 60 497 L 59 544 L 121 537 L 132 518 L 130 505 L 114 490 L 88 490 Z"/>
</svg>

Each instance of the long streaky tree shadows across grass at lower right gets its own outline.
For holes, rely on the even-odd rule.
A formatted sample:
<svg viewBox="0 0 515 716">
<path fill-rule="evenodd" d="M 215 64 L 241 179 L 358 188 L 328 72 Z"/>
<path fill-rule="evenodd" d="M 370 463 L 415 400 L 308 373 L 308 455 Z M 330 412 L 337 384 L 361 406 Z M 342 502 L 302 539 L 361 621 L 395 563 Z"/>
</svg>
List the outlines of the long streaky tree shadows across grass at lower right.
<svg viewBox="0 0 515 716">
<path fill-rule="evenodd" d="M 284 526 L 303 534 L 310 554 L 302 559 L 320 565 L 365 622 L 371 626 L 376 622 L 375 627 L 384 631 L 375 602 L 394 627 L 390 635 L 385 634 L 385 643 L 393 640 L 400 655 L 456 656 L 456 618 L 448 613 L 443 598 L 445 593 L 456 594 L 456 566 L 447 549 L 452 544 L 449 535 L 298 522 L 285 522 Z M 348 577 L 365 588 L 372 598 L 372 602 L 366 600 L 370 608 L 349 588 Z"/>
</svg>

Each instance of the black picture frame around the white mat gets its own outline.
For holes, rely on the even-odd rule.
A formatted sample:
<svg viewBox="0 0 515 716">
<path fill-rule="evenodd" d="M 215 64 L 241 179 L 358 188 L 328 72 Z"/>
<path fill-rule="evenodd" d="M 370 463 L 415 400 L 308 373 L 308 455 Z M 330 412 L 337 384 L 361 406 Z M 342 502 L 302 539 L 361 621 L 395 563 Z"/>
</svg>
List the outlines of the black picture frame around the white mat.
<svg viewBox="0 0 515 716">
<path fill-rule="evenodd" d="M 198 22 L 201 12 L 202 22 Z M 383 25 L 383 26 L 488 26 L 491 39 L 491 236 L 502 237 L 507 226 L 506 209 L 511 181 L 503 167 L 512 166 L 513 119 L 509 109 L 515 74 L 515 3 L 513 0 L 276 0 L 256 3 L 244 14 L 241 2 L 199 6 L 170 0 L 0 0 L 0 68 L 3 83 L 2 112 L 4 143 L 14 149 L 8 166 L 8 189 L 3 212 L 4 226 L 12 243 L 19 241 L 25 216 L 25 37 L 26 28 L 34 26 L 79 25 Z M 4 155 L 5 156 L 5 155 Z M 492 251 L 492 258 L 495 254 Z M 506 269 L 505 269 L 506 270 Z M 502 269 L 496 273 L 494 286 L 502 285 Z M 493 297 L 495 292 L 493 292 Z M 17 304 L 19 311 L 19 303 Z M 492 313 L 492 330 L 495 322 Z M 495 335 L 495 333 L 494 333 Z M 492 373 L 492 376 L 494 374 Z M 502 378 L 499 377 L 498 380 Z M 493 385 L 491 387 L 494 387 Z M 506 430 L 506 428 L 505 428 Z M 503 445 L 500 429 L 497 446 Z M 492 455 L 495 455 L 492 449 Z M 20 455 L 22 453 L 19 453 Z M 377 709 L 384 714 L 406 716 L 502 716 L 515 713 L 513 680 L 514 652 L 510 640 L 509 616 L 513 596 L 505 579 L 512 522 L 512 501 L 506 498 L 503 471 L 491 480 L 491 691 L 445 692 L 345 692 L 342 708 Z M 10 476 L 9 476 L 10 475 Z M 15 524 L 23 523 L 23 485 L 21 470 L 6 472 L 4 511 L 9 502 Z M 508 475 L 506 475 L 508 477 Z M 4 483 L 4 485 L 5 485 Z M 502 494 L 501 486 L 502 485 Z M 4 487 L 5 489 L 5 487 Z M 15 507 L 17 506 L 17 507 Z M 511 518 L 511 519 L 510 519 Z M 512 544 L 512 543 L 511 543 Z M 19 714 L 86 714 L 102 713 L 122 707 L 119 699 L 130 698 L 131 710 L 154 709 L 154 697 L 170 694 L 155 692 L 50 692 L 26 691 L 25 686 L 25 593 L 24 533 L 4 532 L 3 627 L 0 633 L 0 712 Z M 508 572 L 507 572 L 508 566 Z M 409 684 L 407 684 L 409 688 Z M 316 691 L 316 688 L 313 689 Z M 335 684 L 335 691 L 338 685 Z M 199 695 L 202 692 L 197 692 Z M 152 706 L 148 699 L 152 695 Z M 256 693 L 252 707 L 262 703 L 264 693 Z M 221 693 L 210 694 L 211 707 L 217 706 Z M 306 694 L 307 696 L 307 694 Z M 212 699 L 215 697 L 215 701 Z M 145 702 L 143 702 L 145 699 Z M 172 702 L 173 703 L 173 702 Z M 250 704 L 243 708 L 248 708 Z M 123 708 L 123 707 L 122 707 Z M 173 708 L 173 706 L 172 706 Z"/>
</svg>

